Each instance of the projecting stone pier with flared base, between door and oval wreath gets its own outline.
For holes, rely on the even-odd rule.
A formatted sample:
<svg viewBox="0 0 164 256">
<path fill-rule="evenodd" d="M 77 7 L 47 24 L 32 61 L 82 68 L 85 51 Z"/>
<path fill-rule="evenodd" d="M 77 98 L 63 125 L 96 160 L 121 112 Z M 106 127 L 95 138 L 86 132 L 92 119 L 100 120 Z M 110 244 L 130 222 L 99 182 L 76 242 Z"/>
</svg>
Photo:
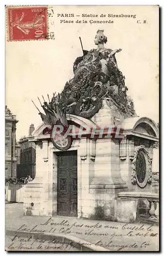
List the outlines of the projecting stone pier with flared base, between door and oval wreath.
<svg viewBox="0 0 164 256">
<path fill-rule="evenodd" d="M 127 188 L 120 175 L 119 140 L 98 139 L 96 143 L 95 175 L 90 188 Z"/>
</svg>

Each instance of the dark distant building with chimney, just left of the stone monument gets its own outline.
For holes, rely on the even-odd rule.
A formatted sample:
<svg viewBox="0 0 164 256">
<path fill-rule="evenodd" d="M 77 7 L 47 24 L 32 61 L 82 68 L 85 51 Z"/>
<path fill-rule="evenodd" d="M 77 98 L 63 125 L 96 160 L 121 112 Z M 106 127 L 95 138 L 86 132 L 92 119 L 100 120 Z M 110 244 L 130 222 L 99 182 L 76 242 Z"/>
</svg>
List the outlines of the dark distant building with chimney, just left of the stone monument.
<svg viewBox="0 0 164 256">
<path fill-rule="evenodd" d="M 29 136 L 25 136 L 19 140 L 20 145 L 20 167 L 17 169 L 17 177 L 27 177 L 30 175 L 35 178 L 35 143 L 29 142 L 29 137 L 35 130 L 34 124 L 30 125 Z"/>
</svg>

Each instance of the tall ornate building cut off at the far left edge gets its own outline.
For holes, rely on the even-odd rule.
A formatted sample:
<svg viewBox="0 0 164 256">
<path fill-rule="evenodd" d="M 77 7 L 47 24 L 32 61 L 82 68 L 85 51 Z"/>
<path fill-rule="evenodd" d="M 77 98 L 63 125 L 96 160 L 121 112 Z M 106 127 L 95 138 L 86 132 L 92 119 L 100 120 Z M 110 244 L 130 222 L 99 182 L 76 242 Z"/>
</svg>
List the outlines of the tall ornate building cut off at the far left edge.
<svg viewBox="0 0 164 256">
<path fill-rule="evenodd" d="M 16 177 L 16 116 L 5 106 L 5 177 Z"/>
</svg>

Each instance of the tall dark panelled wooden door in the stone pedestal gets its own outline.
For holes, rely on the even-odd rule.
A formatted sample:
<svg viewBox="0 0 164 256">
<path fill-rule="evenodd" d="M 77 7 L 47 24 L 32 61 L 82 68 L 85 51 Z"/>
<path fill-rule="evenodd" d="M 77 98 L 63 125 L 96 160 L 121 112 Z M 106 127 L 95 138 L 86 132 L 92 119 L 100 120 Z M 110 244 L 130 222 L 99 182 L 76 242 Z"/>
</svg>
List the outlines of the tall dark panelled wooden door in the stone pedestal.
<svg viewBox="0 0 164 256">
<path fill-rule="evenodd" d="M 77 151 L 58 154 L 57 214 L 77 217 Z"/>
</svg>

